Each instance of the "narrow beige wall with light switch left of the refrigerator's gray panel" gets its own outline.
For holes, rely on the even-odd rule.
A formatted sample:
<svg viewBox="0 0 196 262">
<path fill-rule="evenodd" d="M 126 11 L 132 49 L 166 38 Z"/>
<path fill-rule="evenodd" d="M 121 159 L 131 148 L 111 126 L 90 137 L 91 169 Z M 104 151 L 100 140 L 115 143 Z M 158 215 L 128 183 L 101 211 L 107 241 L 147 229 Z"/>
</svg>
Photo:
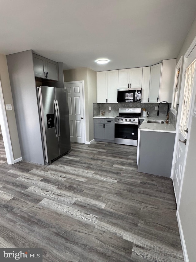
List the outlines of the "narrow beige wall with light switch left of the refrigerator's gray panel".
<svg viewBox="0 0 196 262">
<path fill-rule="evenodd" d="M 12 100 L 12 93 L 11 93 L 11 87 L 9 82 L 7 60 L 6 60 L 6 56 L 2 54 L 0 54 L 0 79 L 1 79 L 4 103 L 12 105 L 12 110 L 7 110 L 6 115 L 7 115 L 7 121 L 9 126 L 10 139 L 12 143 L 13 157 L 14 159 L 17 159 L 21 157 L 21 149 L 18 139 L 16 118 L 13 108 L 13 100 Z"/>
</svg>

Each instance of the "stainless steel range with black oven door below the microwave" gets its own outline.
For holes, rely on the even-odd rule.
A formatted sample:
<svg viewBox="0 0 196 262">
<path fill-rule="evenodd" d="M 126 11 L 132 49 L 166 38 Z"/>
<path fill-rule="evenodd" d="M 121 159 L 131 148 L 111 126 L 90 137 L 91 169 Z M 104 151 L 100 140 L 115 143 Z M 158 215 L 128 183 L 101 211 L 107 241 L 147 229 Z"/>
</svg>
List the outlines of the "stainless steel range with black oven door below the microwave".
<svg viewBox="0 0 196 262">
<path fill-rule="evenodd" d="M 140 116 L 141 108 L 119 108 L 115 117 L 115 144 L 137 146 Z"/>
</svg>

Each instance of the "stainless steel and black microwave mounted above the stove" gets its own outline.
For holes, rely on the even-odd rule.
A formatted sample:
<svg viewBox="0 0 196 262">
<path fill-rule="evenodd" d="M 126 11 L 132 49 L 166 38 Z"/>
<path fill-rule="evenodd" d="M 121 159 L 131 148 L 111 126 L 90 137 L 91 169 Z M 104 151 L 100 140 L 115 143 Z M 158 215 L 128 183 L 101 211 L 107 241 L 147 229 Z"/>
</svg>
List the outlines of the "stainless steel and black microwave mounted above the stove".
<svg viewBox="0 0 196 262">
<path fill-rule="evenodd" d="M 141 102 L 141 88 L 118 89 L 118 102 Z"/>
</svg>

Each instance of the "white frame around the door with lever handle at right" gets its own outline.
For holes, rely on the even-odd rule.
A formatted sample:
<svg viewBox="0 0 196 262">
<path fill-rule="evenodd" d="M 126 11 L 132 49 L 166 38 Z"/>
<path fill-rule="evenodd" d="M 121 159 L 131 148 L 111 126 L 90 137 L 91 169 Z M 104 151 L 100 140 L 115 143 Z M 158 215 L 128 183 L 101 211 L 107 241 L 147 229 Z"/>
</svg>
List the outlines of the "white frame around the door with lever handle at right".
<svg viewBox="0 0 196 262">
<path fill-rule="evenodd" d="M 177 117 L 177 125 L 176 125 L 176 131 L 179 129 L 179 122 L 181 118 L 181 111 L 182 111 L 182 102 L 183 102 L 183 94 L 184 94 L 184 85 L 185 85 L 185 78 L 184 74 L 186 72 L 186 60 L 194 47 L 196 46 L 196 37 L 194 38 L 193 42 L 187 49 L 187 52 L 184 55 L 184 61 L 183 61 L 183 69 L 182 69 L 182 81 L 181 81 L 181 87 L 180 87 L 180 98 L 179 98 L 179 108 L 178 108 L 178 117 Z M 196 71 L 195 71 L 196 72 Z M 191 101 L 190 101 L 190 108 L 189 108 L 189 117 L 188 117 L 188 123 L 190 124 L 189 126 L 189 132 L 188 132 L 188 137 L 190 136 L 190 130 L 191 130 L 191 122 L 190 122 L 190 117 L 192 116 L 191 112 L 193 111 L 194 108 L 194 100 L 195 100 L 195 95 L 196 95 L 196 74 L 194 74 L 194 83 L 193 83 L 193 89 L 192 89 L 192 95 L 191 95 Z M 172 160 L 172 170 L 171 170 L 171 179 L 173 180 L 174 176 L 174 165 L 175 165 L 175 154 L 177 151 L 178 147 L 178 136 L 176 134 L 175 137 L 175 146 L 174 146 L 174 154 L 173 154 L 173 160 Z M 180 206 L 180 200 L 181 200 L 181 194 L 182 194 L 182 187 L 183 187 L 183 180 L 184 180 L 184 172 L 185 172 L 185 166 L 186 166 L 186 160 L 187 160 L 187 153 L 188 153 L 188 147 L 189 147 L 189 139 L 187 139 L 187 145 L 185 149 L 185 156 L 184 156 L 184 164 L 183 164 L 183 170 L 182 170 L 182 178 L 181 178 L 181 183 L 180 183 L 180 189 L 179 189 L 179 197 L 178 199 L 176 198 L 177 202 L 177 213 L 179 211 L 179 206 Z M 176 197 L 176 195 L 175 195 Z"/>
</svg>

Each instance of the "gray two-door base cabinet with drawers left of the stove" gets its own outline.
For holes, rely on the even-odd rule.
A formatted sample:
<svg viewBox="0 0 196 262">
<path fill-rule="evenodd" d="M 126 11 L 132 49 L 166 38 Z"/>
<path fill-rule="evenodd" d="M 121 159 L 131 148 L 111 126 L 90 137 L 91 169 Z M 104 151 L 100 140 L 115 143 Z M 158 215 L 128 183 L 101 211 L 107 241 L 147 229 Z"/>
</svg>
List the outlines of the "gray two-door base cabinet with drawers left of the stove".
<svg viewBox="0 0 196 262">
<path fill-rule="evenodd" d="M 114 143 L 114 119 L 94 118 L 95 141 Z"/>
</svg>

